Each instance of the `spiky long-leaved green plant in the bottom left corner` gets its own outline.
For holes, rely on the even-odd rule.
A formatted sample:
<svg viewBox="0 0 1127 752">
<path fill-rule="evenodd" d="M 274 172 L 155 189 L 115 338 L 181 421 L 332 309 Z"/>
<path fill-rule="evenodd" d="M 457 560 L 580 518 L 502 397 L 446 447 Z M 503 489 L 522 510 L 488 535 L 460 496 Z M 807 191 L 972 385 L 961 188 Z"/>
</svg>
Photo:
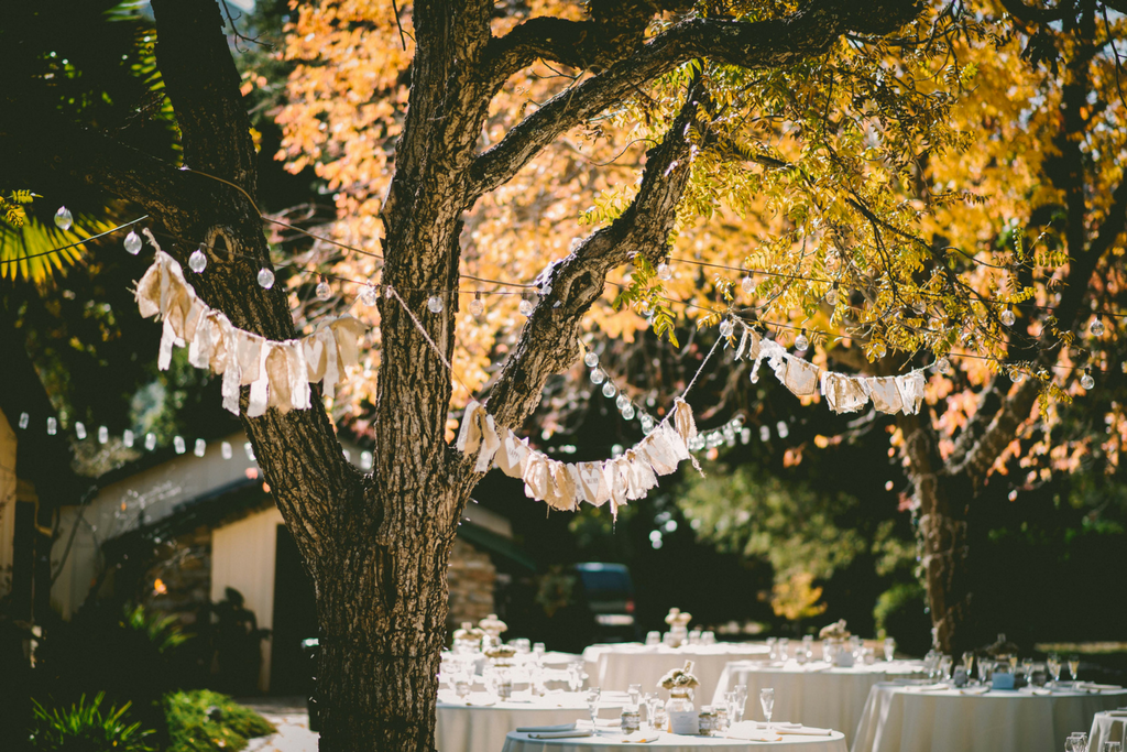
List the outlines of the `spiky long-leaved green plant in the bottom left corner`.
<svg viewBox="0 0 1127 752">
<path fill-rule="evenodd" d="M 92 702 L 83 695 L 70 708 L 47 708 L 33 700 L 34 723 L 30 747 L 52 752 L 150 752 L 145 737 L 151 731 L 142 731 L 140 723 L 125 719 L 130 704 L 115 708 L 110 706 L 104 715 L 98 692 Z"/>
</svg>

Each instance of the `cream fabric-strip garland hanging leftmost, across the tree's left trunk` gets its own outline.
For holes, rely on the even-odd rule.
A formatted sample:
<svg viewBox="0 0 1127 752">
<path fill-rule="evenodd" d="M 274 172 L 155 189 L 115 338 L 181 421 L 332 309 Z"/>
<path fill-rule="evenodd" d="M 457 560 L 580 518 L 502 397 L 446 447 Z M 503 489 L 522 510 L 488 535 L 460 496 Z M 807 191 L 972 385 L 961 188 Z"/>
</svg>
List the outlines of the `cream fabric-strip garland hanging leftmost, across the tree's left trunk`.
<svg viewBox="0 0 1127 752">
<path fill-rule="evenodd" d="M 285 413 L 309 409 L 309 384 L 321 382 L 331 397 L 346 369 L 360 362 L 357 340 L 367 329 L 350 316 L 329 321 L 300 339 L 276 342 L 234 327 L 221 311 L 208 308 L 184 277 L 179 263 L 157 245 L 152 266 L 137 283 L 141 316 L 160 315 L 163 334 L 157 365 L 168 370 L 172 347 L 188 348 L 188 362 L 223 377 L 223 407 L 239 414 L 239 388 L 250 387 L 247 415 L 257 417 L 267 407 Z"/>
</svg>

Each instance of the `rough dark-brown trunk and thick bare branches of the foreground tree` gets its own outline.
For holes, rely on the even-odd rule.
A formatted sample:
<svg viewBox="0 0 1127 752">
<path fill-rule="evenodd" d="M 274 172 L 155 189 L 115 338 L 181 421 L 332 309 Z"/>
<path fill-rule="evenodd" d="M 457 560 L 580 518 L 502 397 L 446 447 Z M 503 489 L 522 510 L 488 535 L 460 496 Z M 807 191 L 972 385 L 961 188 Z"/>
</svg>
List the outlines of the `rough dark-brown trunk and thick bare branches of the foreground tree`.
<svg viewBox="0 0 1127 752">
<path fill-rule="evenodd" d="M 325 750 L 434 749 L 446 563 L 479 476 L 444 439 L 452 383 L 443 356 L 454 345 L 456 297 L 441 315 L 425 311 L 431 294 L 458 286 L 462 214 L 567 130 L 690 59 L 787 65 L 825 53 L 846 32 L 887 33 L 921 11 L 916 0 L 815 0 L 783 19 L 691 18 L 645 39 L 662 5 L 596 0 L 589 20 L 534 19 L 500 38 L 490 33 L 492 3 L 486 0 L 414 6 L 409 108 L 382 210 L 382 282 L 399 291 L 426 334 L 397 300 L 381 299 L 374 469 L 362 476 L 345 461 L 319 407 L 243 418 L 317 589 Z M 77 129 L 55 113 L 28 117 L 19 107 L 0 106 L 0 145 L 11 156 L 0 165 L 0 179 L 46 193 L 52 180 L 77 177 L 145 207 L 181 260 L 201 241 L 213 247 L 207 272 L 193 277 L 210 306 L 238 327 L 290 338 L 284 292 L 255 282 L 270 262 L 248 200 L 256 193 L 254 145 L 219 7 L 214 0 L 152 6 L 158 65 L 185 167 L 195 172 Z M 477 153 L 492 96 L 538 57 L 589 64 L 597 73 Z M 629 211 L 556 265 L 552 293 L 540 299 L 488 400 L 498 424 L 518 426 L 545 380 L 574 363 L 582 317 L 602 294 L 606 274 L 633 254 L 651 262 L 665 254 L 689 175 L 683 124 L 695 113 L 691 97 L 686 103 L 649 152 Z"/>
</svg>

